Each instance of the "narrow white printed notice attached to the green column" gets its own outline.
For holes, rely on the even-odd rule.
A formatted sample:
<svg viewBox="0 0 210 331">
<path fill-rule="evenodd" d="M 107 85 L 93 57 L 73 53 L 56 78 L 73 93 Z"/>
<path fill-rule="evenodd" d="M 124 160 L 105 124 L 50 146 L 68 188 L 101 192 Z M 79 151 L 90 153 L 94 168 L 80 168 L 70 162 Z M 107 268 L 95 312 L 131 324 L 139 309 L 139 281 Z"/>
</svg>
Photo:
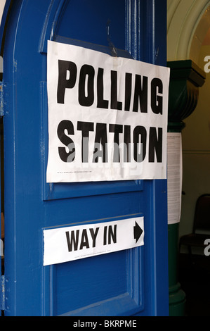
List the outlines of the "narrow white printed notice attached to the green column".
<svg viewBox="0 0 210 331">
<path fill-rule="evenodd" d="M 168 223 L 181 218 L 181 192 L 183 178 L 182 139 L 180 132 L 168 133 Z"/>
</svg>

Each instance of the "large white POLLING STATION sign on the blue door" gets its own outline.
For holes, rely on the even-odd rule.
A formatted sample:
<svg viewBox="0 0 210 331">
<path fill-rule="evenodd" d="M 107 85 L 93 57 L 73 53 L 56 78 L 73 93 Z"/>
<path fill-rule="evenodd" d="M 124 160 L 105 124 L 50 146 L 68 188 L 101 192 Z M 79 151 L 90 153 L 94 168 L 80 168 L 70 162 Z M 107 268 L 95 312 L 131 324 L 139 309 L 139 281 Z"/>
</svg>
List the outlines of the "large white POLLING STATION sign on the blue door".
<svg viewBox="0 0 210 331">
<path fill-rule="evenodd" d="M 47 182 L 166 178 L 169 68 L 48 42 Z"/>
</svg>

